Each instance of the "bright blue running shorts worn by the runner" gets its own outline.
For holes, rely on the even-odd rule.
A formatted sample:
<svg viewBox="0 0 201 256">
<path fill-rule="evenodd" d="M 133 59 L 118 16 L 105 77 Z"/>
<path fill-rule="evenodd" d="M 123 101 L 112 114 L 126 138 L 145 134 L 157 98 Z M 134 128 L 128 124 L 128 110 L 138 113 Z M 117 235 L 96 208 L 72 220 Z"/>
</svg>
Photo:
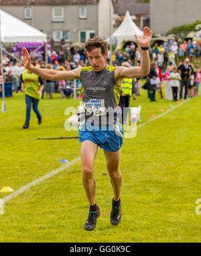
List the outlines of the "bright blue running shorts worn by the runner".
<svg viewBox="0 0 201 256">
<path fill-rule="evenodd" d="M 104 129 L 104 131 L 103 131 Z M 104 128 L 88 125 L 79 128 L 79 141 L 92 141 L 105 151 L 118 151 L 123 144 L 123 128 L 120 123 L 107 125 Z"/>
</svg>

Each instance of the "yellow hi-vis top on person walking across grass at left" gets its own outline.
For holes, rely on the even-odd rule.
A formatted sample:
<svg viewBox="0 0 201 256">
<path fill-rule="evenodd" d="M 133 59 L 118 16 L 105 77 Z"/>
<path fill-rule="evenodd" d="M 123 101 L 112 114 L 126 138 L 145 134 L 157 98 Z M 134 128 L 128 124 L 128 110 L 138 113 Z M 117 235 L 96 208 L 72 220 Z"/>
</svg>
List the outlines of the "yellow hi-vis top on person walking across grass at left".
<svg viewBox="0 0 201 256">
<path fill-rule="evenodd" d="M 29 73 L 28 70 L 24 70 L 22 74 L 22 80 L 25 85 L 24 92 L 32 98 L 40 100 L 42 94 L 38 95 L 37 92 L 41 86 L 38 75 L 34 73 Z"/>
</svg>

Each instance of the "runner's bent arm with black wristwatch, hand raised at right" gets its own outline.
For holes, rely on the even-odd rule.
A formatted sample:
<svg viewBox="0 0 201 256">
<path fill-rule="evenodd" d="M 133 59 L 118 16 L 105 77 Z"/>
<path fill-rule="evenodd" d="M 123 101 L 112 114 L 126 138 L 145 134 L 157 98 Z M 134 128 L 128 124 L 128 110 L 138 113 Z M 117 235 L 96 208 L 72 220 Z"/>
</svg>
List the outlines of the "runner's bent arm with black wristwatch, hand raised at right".
<svg viewBox="0 0 201 256">
<path fill-rule="evenodd" d="M 152 37 L 152 31 L 149 30 L 149 27 L 144 28 L 142 38 L 138 38 L 135 35 L 135 38 L 141 48 L 147 48 L 149 46 L 151 37 Z M 119 66 L 116 68 L 116 70 L 117 70 L 115 75 L 116 79 L 147 76 L 150 70 L 149 51 L 141 50 L 141 62 L 139 67 L 125 68 L 123 66 L 121 67 Z"/>
</svg>

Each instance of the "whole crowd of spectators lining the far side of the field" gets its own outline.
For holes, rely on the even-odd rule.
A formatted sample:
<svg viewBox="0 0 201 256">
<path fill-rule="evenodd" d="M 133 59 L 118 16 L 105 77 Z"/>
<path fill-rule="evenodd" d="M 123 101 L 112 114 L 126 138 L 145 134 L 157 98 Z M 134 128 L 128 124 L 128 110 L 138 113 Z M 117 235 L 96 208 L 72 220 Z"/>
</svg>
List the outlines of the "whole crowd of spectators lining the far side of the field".
<svg viewBox="0 0 201 256">
<path fill-rule="evenodd" d="M 196 40 L 196 38 L 192 40 L 182 40 L 172 39 L 165 40 L 163 43 L 159 44 L 155 42 L 153 46 L 149 48 L 149 56 L 151 59 L 151 70 L 150 74 L 147 77 L 147 84 L 150 84 L 150 78 L 158 77 L 159 81 L 155 82 L 156 89 L 160 94 L 161 98 L 163 98 L 163 81 L 165 84 L 165 90 L 167 90 L 167 81 L 170 78 L 167 78 L 167 72 L 174 72 L 174 67 L 177 67 L 177 72 L 182 76 L 182 71 L 179 68 L 182 64 L 184 64 L 184 60 L 188 58 L 189 62 L 194 60 L 194 65 L 191 63 L 192 74 L 188 74 L 188 86 L 190 86 L 190 77 L 193 76 L 193 72 L 197 72 L 198 68 L 200 68 L 200 56 L 201 56 L 201 40 L 200 42 Z M 139 66 L 141 61 L 141 51 L 139 47 L 131 42 L 130 44 L 125 44 L 125 48 L 117 49 L 115 52 L 111 52 L 109 50 L 107 54 L 107 64 L 112 64 L 113 66 L 121 66 L 123 62 L 128 62 L 131 66 Z M 1 64 L 0 64 L 1 65 Z M 73 70 L 74 68 L 78 68 L 81 66 L 88 66 L 88 60 L 86 58 L 86 52 L 83 46 L 74 46 L 72 48 L 67 47 L 66 50 L 60 50 L 58 52 L 52 51 L 50 56 L 48 57 L 48 64 L 45 64 L 44 60 L 36 59 L 34 60 L 34 65 L 39 66 L 41 68 L 50 68 L 54 70 Z M 198 66 L 196 66 L 198 65 Z M 17 62 L 15 58 L 11 56 L 3 55 L 3 68 L 5 72 L 5 82 L 11 82 L 13 84 L 13 90 L 18 92 L 21 90 L 21 74 L 23 72 L 23 64 L 22 62 Z M 154 72 L 156 70 L 156 74 Z M 1 72 L 1 71 L 0 71 Z M 197 87 L 194 86 L 194 90 L 185 91 L 185 98 L 188 96 L 196 96 L 198 94 L 198 80 L 196 82 L 196 76 L 194 75 L 194 83 L 197 84 Z M 153 82 L 153 79 L 151 80 Z M 180 83 L 182 84 L 183 78 L 181 77 Z M 186 82 L 186 81 L 185 81 Z M 153 82 L 154 83 L 154 82 Z M 192 83 L 192 82 L 191 82 Z M 61 81 L 50 81 L 44 80 L 44 93 L 52 99 L 55 92 L 59 92 L 61 94 L 61 98 L 69 98 L 72 96 L 74 88 L 76 87 L 76 96 L 82 97 L 80 94 L 80 80 L 61 80 Z M 144 86 L 145 88 L 146 86 Z M 153 86 L 152 86 L 153 87 Z M 140 80 L 139 78 L 133 79 L 133 88 L 136 96 L 140 96 Z M 197 89 L 196 89 L 197 88 Z M 153 89 L 153 88 L 152 88 Z M 174 89 L 175 91 L 176 89 Z M 150 90 L 148 90 L 149 92 Z M 155 95 L 155 91 L 153 94 Z M 152 90 L 151 90 L 152 92 Z M 165 92 L 166 93 L 166 92 Z M 181 94 L 181 93 L 180 93 Z M 166 95 L 166 94 L 165 94 Z M 175 94 L 174 94 L 175 95 Z M 148 93 L 148 96 L 149 93 Z M 165 96 L 167 99 L 168 97 Z M 170 97 L 169 97 L 170 98 Z M 136 99 L 135 97 L 133 99 Z M 151 100 L 151 99 L 150 99 Z M 152 99 L 155 101 L 155 96 Z"/>
</svg>

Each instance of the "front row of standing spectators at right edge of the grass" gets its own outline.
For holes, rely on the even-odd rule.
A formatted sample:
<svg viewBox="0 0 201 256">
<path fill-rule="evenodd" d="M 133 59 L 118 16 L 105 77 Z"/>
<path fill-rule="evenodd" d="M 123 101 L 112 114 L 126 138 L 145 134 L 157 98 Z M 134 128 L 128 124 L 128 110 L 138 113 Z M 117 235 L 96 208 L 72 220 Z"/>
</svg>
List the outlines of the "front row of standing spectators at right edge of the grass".
<svg viewBox="0 0 201 256">
<path fill-rule="evenodd" d="M 196 97 L 198 96 L 201 82 L 200 65 L 196 64 L 194 66 L 194 64 L 190 63 L 190 59 L 186 58 L 178 66 L 167 65 L 162 71 L 157 62 L 153 62 L 149 76 L 147 76 L 146 82 L 142 86 L 148 91 L 150 102 L 157 101 L 155 92 L 158 92 L 161 99 L 163 99 L 163 82 L 166 100 L 178 101 Z"/>
</svg>

